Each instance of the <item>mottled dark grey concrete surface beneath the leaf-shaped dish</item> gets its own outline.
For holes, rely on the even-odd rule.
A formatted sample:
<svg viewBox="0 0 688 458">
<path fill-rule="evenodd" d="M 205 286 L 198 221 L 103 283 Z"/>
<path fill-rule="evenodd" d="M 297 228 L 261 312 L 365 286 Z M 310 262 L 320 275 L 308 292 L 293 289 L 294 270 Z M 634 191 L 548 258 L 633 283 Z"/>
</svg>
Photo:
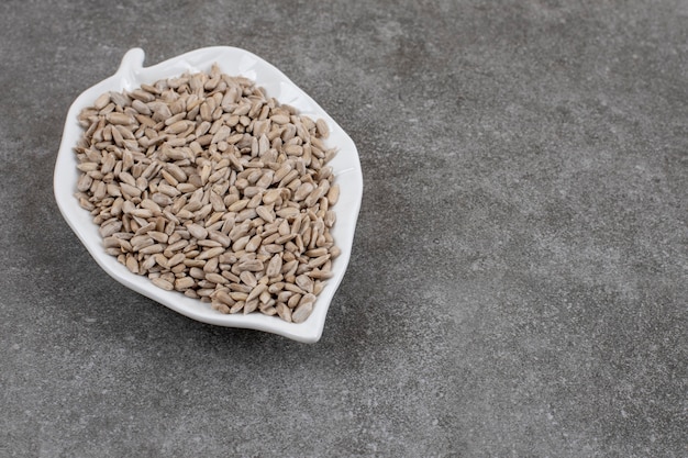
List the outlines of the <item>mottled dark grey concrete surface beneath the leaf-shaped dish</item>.
<svg viewBox="0 0 688 458">
<path fill-rule="evenodd" d="M 0 456 L 688 456 L 688 2 L 0 3 Z M 102 272 L 52 174 L 131 47 L 246 48 L 356 143 L 315 345 Z"/>
</svg>

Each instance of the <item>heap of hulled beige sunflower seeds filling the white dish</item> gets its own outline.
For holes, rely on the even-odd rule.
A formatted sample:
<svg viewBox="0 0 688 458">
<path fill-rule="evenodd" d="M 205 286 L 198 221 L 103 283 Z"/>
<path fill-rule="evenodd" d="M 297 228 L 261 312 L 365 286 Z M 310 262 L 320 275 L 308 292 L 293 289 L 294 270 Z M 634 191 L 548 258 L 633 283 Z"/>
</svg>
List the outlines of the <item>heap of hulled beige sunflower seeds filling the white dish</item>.
<svg viewBox="0 0 688 458">
<path fill-rule="evenodd" d="M 308 319 L 341 253 L 324 121 L 217 66 L 103 93 L 78 121 L 76 197 L 108 254 L 221 313 Z"/>
</svg>

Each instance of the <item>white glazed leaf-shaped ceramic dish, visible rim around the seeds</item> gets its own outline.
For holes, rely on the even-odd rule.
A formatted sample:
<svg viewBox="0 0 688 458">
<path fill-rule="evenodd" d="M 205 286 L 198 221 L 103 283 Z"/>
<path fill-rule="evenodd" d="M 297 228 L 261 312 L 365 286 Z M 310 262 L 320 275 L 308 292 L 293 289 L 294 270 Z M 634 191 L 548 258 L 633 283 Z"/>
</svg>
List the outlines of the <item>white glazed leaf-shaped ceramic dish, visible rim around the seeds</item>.
<svg viewBox="0 0 688 458">
<path fill-rule="evenodd" d="M 244 49 L 225 46 L 207 47 L 145 68 L 143 62 L 143 49 L 129 51 L 113 76 L 86 90 L 71 104 L 57 154 L 54 176 L 55 198 L 63 216 L 106 272 L 125 287 L 182 315 L 219 326 L 264 331 L 303 343 L 318 342 L 322 335 L 330 302 L 348 265 L 363 196 L 363 175 L 354 142 L 313 99 L 281 71 Z M 311 316 L 303 323 L 287 323 L 276 316 L 266 316 L 260 313 L 225 315 L 212 310 L 210 304 L 187 298 L 179 292 L 164 291 L 153 286 L 146 277 L 131 273 L 114 257 L 106 254 L 102 239 L 89 212 L 81 209 L 74 197 L 78 175 L 73 148 L 82 134 L 82 129 L 77 122 L 77 114 L 82 108 L 92 104 L 103 92 L 133 90 L 141 83 L 152 83 L 185 71 L 207 71 L 213 63 L 217 63 L 228 75 L 242 75 L 255 80 L 258 86 L 267 90 L 268 96 L 275 97 L 281 103 L 296 107 L 302 114 L 325 120 L 331 131 L 326 144 L 339 149 L 339 154 L 330 163 L 336 176 L 335 182 L 341 188 L 340 200 L 334 206 L 337 221 L 332 228 L 332 235 L 336 245 L 342 249 L 342 254 L 332 262 L 334 276 L 328 280 L 325 288 L 318 297 Z"/>
</svg>

